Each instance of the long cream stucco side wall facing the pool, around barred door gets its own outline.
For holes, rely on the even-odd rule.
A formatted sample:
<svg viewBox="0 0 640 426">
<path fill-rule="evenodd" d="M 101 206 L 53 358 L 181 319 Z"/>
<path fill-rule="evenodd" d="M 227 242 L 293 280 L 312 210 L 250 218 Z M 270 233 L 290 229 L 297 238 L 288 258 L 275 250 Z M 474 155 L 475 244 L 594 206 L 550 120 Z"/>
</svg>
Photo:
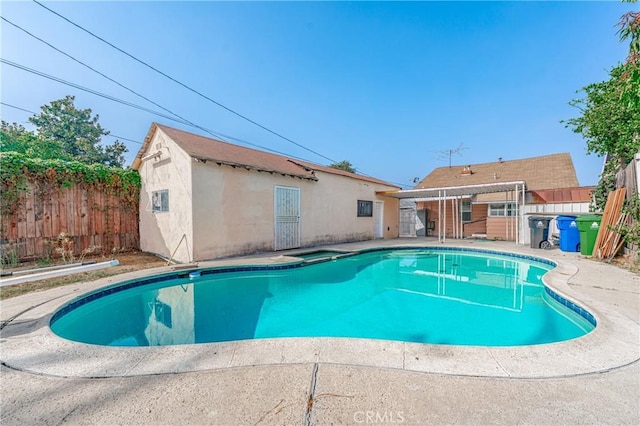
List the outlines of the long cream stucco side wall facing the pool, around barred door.
<svg viewBox="0 0 640 426">
<path fill-rule="evenodd" d="M 384 237 L 398 235 L 398 200 L 375 195 L 392 189 L 386 185 L 323 172 L 310 181 L 212 162 L 192 166 L 195 260 L 272 251 L 275 186 L 300 189 L 301 247 L 372 239 L 374 218 L 357 217 L 357 200 L 383 200 Z"/>
</svg>

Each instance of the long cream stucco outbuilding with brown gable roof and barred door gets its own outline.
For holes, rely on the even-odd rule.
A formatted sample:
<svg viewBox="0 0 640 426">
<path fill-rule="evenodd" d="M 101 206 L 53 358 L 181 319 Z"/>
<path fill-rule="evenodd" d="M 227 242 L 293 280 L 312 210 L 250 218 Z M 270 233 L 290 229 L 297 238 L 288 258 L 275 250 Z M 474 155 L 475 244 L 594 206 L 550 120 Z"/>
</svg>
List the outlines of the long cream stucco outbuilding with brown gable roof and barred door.
<svg viewBox="0 0 640 426">
<path fill-rule="evenodd" d="M 181 262 L 398 236 L 381 180 L 152 124 L 140 248 Z"/>
</svg>

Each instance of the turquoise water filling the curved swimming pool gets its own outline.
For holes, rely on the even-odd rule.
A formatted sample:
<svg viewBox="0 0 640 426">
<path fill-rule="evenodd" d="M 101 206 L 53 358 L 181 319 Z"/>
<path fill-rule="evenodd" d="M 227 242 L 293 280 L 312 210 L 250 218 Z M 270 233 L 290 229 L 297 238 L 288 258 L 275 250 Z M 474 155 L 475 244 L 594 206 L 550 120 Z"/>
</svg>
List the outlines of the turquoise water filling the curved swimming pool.
<svg viewBox="0 0 640 426">
<path fill-rule="evenodd" d="M 201 270 L 199 277 L 173 273 L 76 300 L 54 315 L 51 329 L 111 346 L 273 337 L 511 346 L 590 332 L 593 317 L 542 284 L 552 268 L 494 253 L 421 249 L 269 270 Z"/>
</svg>

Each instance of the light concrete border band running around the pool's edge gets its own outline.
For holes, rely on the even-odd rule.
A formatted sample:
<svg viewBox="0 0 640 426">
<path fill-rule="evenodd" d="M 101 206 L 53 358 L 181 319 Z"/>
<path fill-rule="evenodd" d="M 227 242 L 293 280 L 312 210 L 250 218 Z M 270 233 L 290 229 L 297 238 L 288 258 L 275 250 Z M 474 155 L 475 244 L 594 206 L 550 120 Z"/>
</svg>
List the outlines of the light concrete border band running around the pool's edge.
<svg viewBox="0 0 640 426">
<path fill-rule="evenodd" d="M 384 245 L 383 249 L 440 247 L 430 244 Z M 452 250 L 483 251 L 466 246 Z M 371 251 L 364 249 L 362 251 Z M 614 306 L 596 300 L 584 301 L 569 285 L 577 266 L 540 255 L 506 250 L 555 263 L 544 275 L 547 287 L 563 299 L 584 307 L 595 317 L 597 327 L 577 339 L 533 346 L 482 347 L 420 344 L 351 338 L 273 338 L 222 343 L 156 347 L 105 347 L 62 339 L 49 328 L 60 307 L 80 296 L 62 295 L 16 315 L 2 330 L 2 364 L 17 370 L 60 377 L 130 377 L 172 374 L 254 365 L 327 363 L 391 368 L 425 373 L 495 377 L 548 378 L 594 374 L 620 368 L 640 358 L 639 325 Z M 279 265 L 299 258 L 273 253 L 259 258 L 201 262 L 199 269 L 239 265 Z M 82 294 L 130 279 L 171 272 L 170 268 L 123 274 L 83 285 Z M 12 332 L 21 321 L 28 330 Z"/>
</svg>

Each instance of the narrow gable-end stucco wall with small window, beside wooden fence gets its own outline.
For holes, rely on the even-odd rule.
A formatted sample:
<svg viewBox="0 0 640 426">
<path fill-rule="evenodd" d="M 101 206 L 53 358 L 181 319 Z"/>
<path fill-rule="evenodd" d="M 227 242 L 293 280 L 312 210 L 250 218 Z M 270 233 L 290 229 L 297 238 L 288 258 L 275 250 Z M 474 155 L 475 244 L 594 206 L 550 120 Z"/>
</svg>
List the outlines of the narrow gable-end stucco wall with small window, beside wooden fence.
<svg viewBox="0 0 640 426">
<path fill-rule="evenodd" d="M 165 257 L 170 257 L 175 251 L 176 259 L 189 262 L 192 260 L 193 244 L 193 160 L 159 129 L 154 134 L 148 152 L 158 150 L 162 152 L 159 159 L 146 160 L 138 169 L 142 181 L 140 249 Z M 154 213 L 151 211 L 151 195 L 153 191 L 164 189 L 169 191 L 169 211 Z"/>
</svg>

